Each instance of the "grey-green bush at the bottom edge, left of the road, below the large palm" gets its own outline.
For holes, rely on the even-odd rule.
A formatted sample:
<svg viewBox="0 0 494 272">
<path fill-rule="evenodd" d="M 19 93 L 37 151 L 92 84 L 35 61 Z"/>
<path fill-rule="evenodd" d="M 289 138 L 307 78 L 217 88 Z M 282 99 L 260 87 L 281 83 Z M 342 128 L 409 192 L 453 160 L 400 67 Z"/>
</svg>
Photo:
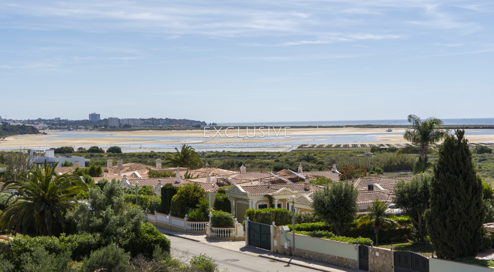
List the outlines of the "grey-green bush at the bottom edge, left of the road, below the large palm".
<svg viewBox="0 0 494 272">
<path fill-rule="evenodd" d="M 104 269 L 105 271 L 125 271 L 129 254 L 117 244 L 112 243 L 106 247 L 91 252 L 89 258 L 84 258 L 82 271 L 94 272 Z"/>
</svg>

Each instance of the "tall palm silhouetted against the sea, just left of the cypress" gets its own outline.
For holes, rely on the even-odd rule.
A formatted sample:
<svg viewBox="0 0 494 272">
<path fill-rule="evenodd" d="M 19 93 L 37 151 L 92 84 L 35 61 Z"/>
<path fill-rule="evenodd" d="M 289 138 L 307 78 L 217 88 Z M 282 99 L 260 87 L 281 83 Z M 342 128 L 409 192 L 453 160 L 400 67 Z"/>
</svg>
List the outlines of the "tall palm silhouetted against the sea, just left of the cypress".
<svg viewBox="0 0 494 272">
<path fill-rule="evenodd" d="M 443 121 L 435 117 L 421 120 L 416 115 L 409 115 L 408 121 L 412 123 L 412 129 L 405 130 L 403 138 L 418 146 L 421 162 L 417 163 L 418 167 L 415 168 L 414 172 L 424 172 L 428 166 L 427 151 L 437 142 L 443 140 L 448 133 L 441 128 Z M 409 149 L 402 149 L 400 153 L 407 152 Z"/>
</svg>

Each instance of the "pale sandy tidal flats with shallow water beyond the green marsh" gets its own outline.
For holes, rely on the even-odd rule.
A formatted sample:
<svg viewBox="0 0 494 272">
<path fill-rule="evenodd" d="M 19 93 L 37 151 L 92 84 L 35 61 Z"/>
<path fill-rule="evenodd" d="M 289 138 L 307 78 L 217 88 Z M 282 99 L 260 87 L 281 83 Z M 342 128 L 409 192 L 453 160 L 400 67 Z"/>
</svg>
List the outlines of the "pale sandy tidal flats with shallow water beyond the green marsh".
<svg viewBox="0 0 494 272">
<path fill-rule="evenodd" d="M 345 135 L 359 136 L 359 141 L 353 141 L 353 143 L 376 143 L 375 140 L 386 141 L 390 144 L 407 143 L 403 139 L 404 128 L 394 128 L 393 132 L 386 132 L 384 128 L 287 128 L 287 134 L 285 134 L 285 129 L 278 127 L 276 131 L 271 128 L 269 131 L 264 129 L 264 137 L 262 133 L 256 129 L 256 137 L 247 137 L 246 130 L 229 129 L 227 135 L 225 135 L 225 129 L 223 128 L 217 133 L 215 130 L 168 130 L 168 131 L 156 131 L 156 130 L 142 130 L 142 131 L 48 131 L 48 134 L 36 134 L 36 135 L 16 135 L 10 136 L 0 141 L 0 149 L 18 149 L 22 148 L 32 148 L 32 149 L 43 149 L 49 147 L 60 147 L 60 146 L 73 146 L 76 149 L 78 147 L 110 147 L 110 146 L 121 146 L 128 147 L 126 151 L 131 150 L 141 150 L 148 151 L 150 149 L 172 149 L 177 145 L 192 144 L 192 145 L 208 145 L 213 148 L 216 142 L 227 142 L 227 141 L 269 141 L 269 142 L 282 142 L 287 144 L 285 147 L 273 146 L 265 147 L 269 149 L 279 150 L 286 149 L 287 146 L 297 146 L 300 144 L 311 144 L 323 143 L 324 140 L 329 140 L 334 137 L 341 137 L 345 139 Z M 207 133 L 209 132 L 209 133 Z M 253 130 L 249 129 L 248 135 L 253 135 Z M 483 134 L 489 134 L 487 131 Z M 467 133 L 468 134 L 468 133 Z M 205 137 L 209 136 L 209 137 Z M 240 135 L 240 137 L 239 137 Z M 285 135 L 287 136 L 285 138 Z M 311 138 L 313 135 L 313 139 Z M 229 136 L 229 137 L 227 137 Z M 278 137 L 276 137 L 278 136 Z M 289 136 L 289 137 L 288 137 Z M 324 139 L 328 136 L 328 139 Z M 169 137 L 169 138 L 168 138 Z M 365 140 L 362 140 L 363 137 Z M 492 142 L 494 141 L 494 130 L 492 130 L 491 135 L 467 135 L 467 139 L 470 142 Z M 372 139 L 374 141 L 369 141 Z M 316 142 L 317 141 L 317 142 Z M 288 143 L 289 142 L 289 143 Z M 332 142 L 329 143 L 333 143 Z M 352 143 L 348 142 L 338 142 L 339 144 Z M 144 150 L 142 150 L 144 149 Z M 197 148 L 196 148 L 197 149 Z M 249 148 L 248 150 L 251 150 Z M 253 150 L 252 150 L 253 151 Z"/>
</svg>

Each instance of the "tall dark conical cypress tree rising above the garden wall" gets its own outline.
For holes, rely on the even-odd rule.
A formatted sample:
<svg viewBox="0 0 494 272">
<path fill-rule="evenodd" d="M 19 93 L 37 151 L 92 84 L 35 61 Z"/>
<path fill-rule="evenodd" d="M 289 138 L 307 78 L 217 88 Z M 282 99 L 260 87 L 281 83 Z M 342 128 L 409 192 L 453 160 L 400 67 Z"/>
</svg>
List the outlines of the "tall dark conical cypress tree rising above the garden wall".
<svg viewBox="0 0 494 272">
<path fill-rule="evenodd" d="M 465 130 L 456 130 L 439 146 L 434 165 L 427 230 L 437 256 L 477 256 L 485 218 L 482 180 L 476 175 Z"/>
</svg>

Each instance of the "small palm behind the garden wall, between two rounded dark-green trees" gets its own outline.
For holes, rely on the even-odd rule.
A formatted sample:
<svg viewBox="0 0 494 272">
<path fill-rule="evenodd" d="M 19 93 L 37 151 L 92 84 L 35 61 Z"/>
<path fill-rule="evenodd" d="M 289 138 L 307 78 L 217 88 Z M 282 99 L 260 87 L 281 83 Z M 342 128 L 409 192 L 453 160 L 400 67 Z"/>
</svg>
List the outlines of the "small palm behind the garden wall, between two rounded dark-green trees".
<svg viewBox="0 0 494 272">
<path fill-rule="evenodd" d="M 372 224 L 375 233 L 375 245 L 378 246 L 377 234 L 379 234 L 379 229 L 382 225 L 400 225 L 392 219 L 395 215 L 387 212 L 388 205 L 384 202 L 376 199 L 372 202 L 372 206 L 367 206 L 367 210 L 368 212 L 366 214 L 357 217 L 357 228 L 360 228 L 362 225 Z"/>
</svg>

